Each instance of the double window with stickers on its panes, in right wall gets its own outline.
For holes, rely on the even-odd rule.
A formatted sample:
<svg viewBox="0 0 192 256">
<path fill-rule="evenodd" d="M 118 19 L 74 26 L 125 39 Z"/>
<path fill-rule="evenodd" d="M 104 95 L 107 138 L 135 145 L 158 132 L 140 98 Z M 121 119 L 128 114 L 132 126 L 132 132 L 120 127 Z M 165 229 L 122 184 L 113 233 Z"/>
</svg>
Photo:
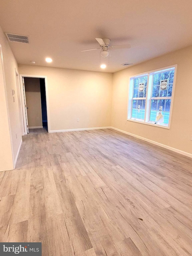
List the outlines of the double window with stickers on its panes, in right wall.
<svg viewBox="0 0 192 256">
<path fill-rule="evenodd" d="M 128 120 L 170 125 L 176 65 L 130 78 Z"/>
</svg>

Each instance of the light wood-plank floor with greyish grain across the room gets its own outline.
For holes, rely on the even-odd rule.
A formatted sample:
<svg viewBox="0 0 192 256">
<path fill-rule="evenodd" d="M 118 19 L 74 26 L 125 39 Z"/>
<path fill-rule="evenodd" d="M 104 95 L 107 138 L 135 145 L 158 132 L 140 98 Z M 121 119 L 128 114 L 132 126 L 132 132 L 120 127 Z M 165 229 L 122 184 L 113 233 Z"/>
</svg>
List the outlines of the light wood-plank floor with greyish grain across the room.
<svg viewBox="0 0 192 256">
<path fill-rule="evenodd" d="M 106 130 L 30 130 L 0 173 L 0 242 L 43 256 L 192 254 L 192 159 Z"/>
</svg>

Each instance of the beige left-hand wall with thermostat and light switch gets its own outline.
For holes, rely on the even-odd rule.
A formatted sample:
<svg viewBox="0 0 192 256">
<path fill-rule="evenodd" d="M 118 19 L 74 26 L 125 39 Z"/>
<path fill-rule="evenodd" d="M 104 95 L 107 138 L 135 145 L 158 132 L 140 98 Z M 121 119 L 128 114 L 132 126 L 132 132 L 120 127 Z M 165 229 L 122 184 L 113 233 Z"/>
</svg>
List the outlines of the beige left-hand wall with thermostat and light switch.
<svg viewBox="0 0 192 256">
<path fill-rule="evenodd" d="M 0 44 L 3 53 L 5 87 L 1 79 L 1 159 L 0 170 L 11 170 L 17 157 L 19 145 L 22 141 L 19 121 L 19 105 L 16 86 L 15 70 L 18 70 L 16 60 L 9 47 L 7 39 L 0 27 Z M 1 74 L 2 75 L 2 74 Z M 12 89 L 15 90 L 15 102 L 13 102 Z M 5 105 L 7 112 L 5 110 Z M 20 109 L 20 111 L 22 111 Z M 16 138 L 17 134 L 17 138 Z"/>
</svg>

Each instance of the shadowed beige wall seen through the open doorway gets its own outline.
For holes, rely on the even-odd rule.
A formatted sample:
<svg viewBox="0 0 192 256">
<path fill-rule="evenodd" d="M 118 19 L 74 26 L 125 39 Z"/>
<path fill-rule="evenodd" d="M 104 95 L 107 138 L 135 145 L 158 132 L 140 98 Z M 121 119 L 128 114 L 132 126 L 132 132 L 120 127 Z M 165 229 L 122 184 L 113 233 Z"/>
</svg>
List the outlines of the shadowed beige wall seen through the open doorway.
<svg viewBox="0 0 192 256">
<path fill-rule="evenodd" d="M 42 127 L 40 79 L 25 77 L 28 126 Z M 39 118 L 39 120 L 37 119 Z"/>
</svg>

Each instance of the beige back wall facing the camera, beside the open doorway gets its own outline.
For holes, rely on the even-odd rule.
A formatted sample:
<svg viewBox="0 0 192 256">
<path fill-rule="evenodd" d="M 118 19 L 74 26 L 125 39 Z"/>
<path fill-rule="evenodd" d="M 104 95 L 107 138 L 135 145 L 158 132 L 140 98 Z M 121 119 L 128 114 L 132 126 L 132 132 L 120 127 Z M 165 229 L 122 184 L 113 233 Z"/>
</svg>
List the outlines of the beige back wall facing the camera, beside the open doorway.
<svg viewBox="0 0 192 256">
<path fill-rule="evenodd" d="M 47 76 L 50 131 L 111 125 L 113 74 L 32 65 L 19 73 Z"/>
</svg>

